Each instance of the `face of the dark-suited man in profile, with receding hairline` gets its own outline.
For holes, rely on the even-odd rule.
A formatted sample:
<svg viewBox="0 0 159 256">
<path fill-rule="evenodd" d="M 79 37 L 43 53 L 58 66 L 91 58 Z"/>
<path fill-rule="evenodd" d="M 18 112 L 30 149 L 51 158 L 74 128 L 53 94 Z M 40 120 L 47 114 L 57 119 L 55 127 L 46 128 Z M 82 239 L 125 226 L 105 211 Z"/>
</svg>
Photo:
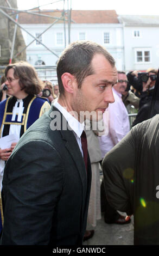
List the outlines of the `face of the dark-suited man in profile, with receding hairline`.
<svg viewBox="0 0 159 256">
<path fill-rule="evenodd" d="M 83 118 L 82 112 L 87 111 L 85 119 L 100 120 L 109 103 L 115 101 L 112 86 L 117 83 L 117 69 L 101 54 L 93 57 L 92 69 L 94 74 L 84 78 L 81 88 L 76 84 L 72 108 L 78 113 L 78 117 Z M 95 113 L 93 118 L 89 116 L 91 112 Z"/>
</svg>

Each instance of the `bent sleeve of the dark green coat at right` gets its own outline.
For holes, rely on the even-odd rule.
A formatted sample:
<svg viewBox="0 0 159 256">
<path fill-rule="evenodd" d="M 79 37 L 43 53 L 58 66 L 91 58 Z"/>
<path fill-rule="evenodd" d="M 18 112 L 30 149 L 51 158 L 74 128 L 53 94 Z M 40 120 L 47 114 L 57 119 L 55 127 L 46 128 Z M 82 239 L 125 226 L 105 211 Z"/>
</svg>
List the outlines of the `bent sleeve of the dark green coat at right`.
<svg viewBox="0 0 159 256">
<path fill-rule="evenodd" d="M 135 137 L 132 130 L 103 160 L 104 185 L 112 208 L 133 214 L 133 182 L 135 172 Z"/>
</svg>

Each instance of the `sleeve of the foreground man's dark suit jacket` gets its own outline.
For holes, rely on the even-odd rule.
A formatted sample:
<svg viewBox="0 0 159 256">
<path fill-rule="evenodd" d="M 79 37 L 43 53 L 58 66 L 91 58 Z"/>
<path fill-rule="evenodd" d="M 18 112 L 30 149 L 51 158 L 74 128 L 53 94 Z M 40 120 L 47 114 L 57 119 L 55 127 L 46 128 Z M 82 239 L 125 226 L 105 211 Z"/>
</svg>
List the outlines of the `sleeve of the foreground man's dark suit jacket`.
<svg viewBox="0 0 159 256">
<path fill-rule="evenodd" d="M 61 162 L 43 141 L 26 143 L 11 155 L 3 178 L 2 245 L 48 245 L 65 179 Z"/>
</svg>

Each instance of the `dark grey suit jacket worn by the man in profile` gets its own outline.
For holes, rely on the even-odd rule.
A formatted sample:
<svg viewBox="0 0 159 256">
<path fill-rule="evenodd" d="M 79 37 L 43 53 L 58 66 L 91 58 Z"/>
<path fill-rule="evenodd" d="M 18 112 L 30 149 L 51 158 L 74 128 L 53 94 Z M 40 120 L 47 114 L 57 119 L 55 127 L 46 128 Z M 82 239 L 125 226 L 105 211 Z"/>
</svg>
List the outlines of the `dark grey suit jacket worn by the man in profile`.
<svg viewBox="0 0 159 256">
<path fill-rule="evenodd" d="M 81 245 L 91 164 L 72 131 L 52 130 L 55 107 L 29 127 L 5 165 L 2 245 Z M 52 123 L 53 122 L 53 123 Z M 67 122 L 66 122 L 67 123 Z"/>
</svg>

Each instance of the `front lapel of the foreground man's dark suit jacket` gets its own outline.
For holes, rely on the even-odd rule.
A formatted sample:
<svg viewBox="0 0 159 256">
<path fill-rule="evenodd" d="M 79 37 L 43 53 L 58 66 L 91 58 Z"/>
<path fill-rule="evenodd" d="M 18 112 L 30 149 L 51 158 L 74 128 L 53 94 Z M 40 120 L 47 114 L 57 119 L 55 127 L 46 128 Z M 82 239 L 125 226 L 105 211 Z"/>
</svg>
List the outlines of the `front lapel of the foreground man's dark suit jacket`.
<svg viewBox="0 0 159 256">
<path fill-rule="evenodd" d="M 81 215 L 81 232 L 84 236 L 84 232 L 86 229 L 87 224 L 87 211 L 88 211 L 88 203 L 90 200 L 90 190 L 91 190 L 91 162 L 90 157 L 88 155 L 88 167 L 86 170 L 85 162 L 82 157 L 77 139 L 74 136 L 73 131 L 69 127 L 67 120 L 65 117 L 63 117 L 62 113 L 52 106 L 52 108 L 49 111 L 49 115 L 51 118 L 54 117 L 55 113 L 59 116 L 59 118 L 56 120 L 56 128 L 60 131 L 61 137 L 63 141 L 65 141 L 65 147 L 69 152 L 69 155 L 71 155 L 75 166 L 77 167 L 77 171 L 80 176 L 81 185 L 82 185 L 82 215 Z"/>
</svg>

